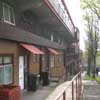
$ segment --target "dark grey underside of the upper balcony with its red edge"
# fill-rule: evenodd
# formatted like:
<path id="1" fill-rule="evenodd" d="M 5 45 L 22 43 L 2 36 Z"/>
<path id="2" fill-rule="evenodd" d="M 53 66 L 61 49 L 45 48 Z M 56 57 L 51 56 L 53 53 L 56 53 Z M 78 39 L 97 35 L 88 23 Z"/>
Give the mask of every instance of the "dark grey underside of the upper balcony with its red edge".
<path id="1" fill-rule="evenodd" d="M 57 11 L 47 1 L 49 0 L 15 0 L 14 2 L 19 12 L 30 10 L 37 16 L 41 25 L 48 26 L 52 31 L 62 32 L 66 35 L 66 40 L 69 38 L 73 40 L 74 32 L 71 32 Z"/>

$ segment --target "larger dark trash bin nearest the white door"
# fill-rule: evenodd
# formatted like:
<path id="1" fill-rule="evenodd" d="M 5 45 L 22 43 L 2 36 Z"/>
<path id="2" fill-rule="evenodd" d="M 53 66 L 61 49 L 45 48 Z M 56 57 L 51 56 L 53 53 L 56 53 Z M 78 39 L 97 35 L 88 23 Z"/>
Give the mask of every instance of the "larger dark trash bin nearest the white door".
<path id="1" fill-rule="evenodd" d="M 36 91 L 39 86 L 39 74 L 28 75 L 28 91 Z"/>

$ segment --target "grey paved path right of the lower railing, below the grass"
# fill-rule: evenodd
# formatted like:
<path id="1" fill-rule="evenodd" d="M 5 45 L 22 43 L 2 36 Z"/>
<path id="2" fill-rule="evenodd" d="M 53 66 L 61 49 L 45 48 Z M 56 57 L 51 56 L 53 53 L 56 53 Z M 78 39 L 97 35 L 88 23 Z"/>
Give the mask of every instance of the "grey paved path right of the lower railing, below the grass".
<path id="1" fill-rule="evenodd" d="M 83 100 L 100 100 L 100 85 L 95 81 L 84 81 Z"/>

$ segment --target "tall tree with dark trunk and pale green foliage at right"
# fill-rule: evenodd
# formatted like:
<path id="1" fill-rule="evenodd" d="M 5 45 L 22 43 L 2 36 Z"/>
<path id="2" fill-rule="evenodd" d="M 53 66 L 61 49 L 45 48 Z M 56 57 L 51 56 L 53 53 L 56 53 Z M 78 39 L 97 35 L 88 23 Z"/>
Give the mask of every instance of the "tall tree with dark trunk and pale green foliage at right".
<path id="1" fill-rule="evenodd" d="M 82 0 L 81 7 L 84 10 L 84 20 L 86 21 L 86 32 L 88 37 L 88 70 L 87 74 L 92 74 L 95 78 L 96 70 L 96 54 L 99 42 L 99 25 L 100 20 L 100 1 L 98 0 Z"/>

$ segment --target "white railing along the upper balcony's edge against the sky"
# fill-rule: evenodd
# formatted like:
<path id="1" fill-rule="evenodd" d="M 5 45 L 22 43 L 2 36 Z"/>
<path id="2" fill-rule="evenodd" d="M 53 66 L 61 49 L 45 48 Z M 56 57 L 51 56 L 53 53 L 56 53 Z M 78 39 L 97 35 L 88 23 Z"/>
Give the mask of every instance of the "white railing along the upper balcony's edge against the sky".
<path id="1" fill-rule="evenodd" d="M 58 17 L 61 18 L 63 23 L 68 27 L 68 29 L 71 31 L 72 35 L 74 35 L 75 27 L 71 21 L 69 13 L 66 11 L 62 0 L 44 0 L 48 6 L 51 8 L 51 10 L 57 13 Z"/>

